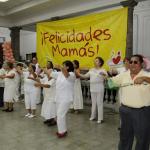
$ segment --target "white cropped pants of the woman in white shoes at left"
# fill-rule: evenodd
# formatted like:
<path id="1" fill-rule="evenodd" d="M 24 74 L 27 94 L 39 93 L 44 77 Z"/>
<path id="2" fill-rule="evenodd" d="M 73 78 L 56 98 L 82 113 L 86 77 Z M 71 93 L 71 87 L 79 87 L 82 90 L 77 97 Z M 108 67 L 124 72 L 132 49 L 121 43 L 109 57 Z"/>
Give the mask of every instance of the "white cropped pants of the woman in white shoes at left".
<path id="1" fill-rule="evenodd" d="M 36 92 L 25 91 L 25 107 L 26 109 L 36 109 Z"/>

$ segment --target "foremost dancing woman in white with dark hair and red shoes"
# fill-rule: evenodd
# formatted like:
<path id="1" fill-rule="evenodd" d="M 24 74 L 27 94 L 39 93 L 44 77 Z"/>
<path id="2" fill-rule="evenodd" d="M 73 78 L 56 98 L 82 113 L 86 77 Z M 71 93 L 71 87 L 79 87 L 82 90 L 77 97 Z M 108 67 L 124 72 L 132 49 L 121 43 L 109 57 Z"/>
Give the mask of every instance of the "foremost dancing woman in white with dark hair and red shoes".
<path id="1" fill-rule="evenodd" d="M 57 136 L 67 135 L 66 115 L 73 102 L 75 74 L 71 61 L 65 61 L 61 72 L 52 72 L 50 77 L 56 79 L 56 109 L 57 109 Z"/>

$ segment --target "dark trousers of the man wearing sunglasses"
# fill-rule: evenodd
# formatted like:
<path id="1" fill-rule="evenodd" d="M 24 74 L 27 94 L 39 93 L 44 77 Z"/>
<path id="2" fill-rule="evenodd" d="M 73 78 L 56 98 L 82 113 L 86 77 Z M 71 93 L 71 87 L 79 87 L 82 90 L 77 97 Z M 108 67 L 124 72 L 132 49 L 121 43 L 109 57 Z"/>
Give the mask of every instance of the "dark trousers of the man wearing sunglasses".
<path id="1" fill-rule="evenodd" d="M 120 107 L 121 130 L 119 150 L 132 150 L 134 137 L 135 150 L 150 148 L 150 107 L 129 108 Z"/>

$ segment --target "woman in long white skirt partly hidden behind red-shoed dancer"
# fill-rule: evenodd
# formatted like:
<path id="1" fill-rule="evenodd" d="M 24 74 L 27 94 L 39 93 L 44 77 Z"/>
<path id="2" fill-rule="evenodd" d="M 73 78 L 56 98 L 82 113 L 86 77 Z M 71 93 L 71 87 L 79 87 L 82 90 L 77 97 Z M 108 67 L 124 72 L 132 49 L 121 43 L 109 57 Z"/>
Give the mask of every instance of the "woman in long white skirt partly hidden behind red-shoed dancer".
<path id="1" fill-rule="evenodd" d="M 80 73 L 79 69 L 79 61 L 73 61 L 75 72 Z M 83 96 L 82 96 L 82 89 L 81 89 L 81 81 L 78 76 L 76 76 L 75 84 L 74 84 L 74 99 L 73 99 L 73 109 L 75 113 L 79 113 L 80 110 L 83 109 Z"/>

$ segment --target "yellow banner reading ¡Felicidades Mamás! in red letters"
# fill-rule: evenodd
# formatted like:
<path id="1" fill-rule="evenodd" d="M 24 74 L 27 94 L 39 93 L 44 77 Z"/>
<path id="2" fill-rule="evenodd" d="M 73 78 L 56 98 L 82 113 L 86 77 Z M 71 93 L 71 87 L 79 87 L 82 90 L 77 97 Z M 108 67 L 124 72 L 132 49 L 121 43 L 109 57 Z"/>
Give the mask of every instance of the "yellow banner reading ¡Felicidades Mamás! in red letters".
<path id="1" fill-rule="evenodd" d="M 93 67 L 95 57 L 104 67 L 119 65 L 125 56 L 127 8 L 37 24 L 37 57 L 61 65 L 78 60 L 81 68 Z"/>

